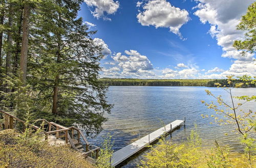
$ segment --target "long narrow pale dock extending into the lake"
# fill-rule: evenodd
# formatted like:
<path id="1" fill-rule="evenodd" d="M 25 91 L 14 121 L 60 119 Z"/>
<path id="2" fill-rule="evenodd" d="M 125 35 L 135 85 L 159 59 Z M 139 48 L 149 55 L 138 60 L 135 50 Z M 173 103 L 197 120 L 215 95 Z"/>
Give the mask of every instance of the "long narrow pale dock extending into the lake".
<path id="1" fill-rule="evenodd" d="M 185 120 L 185 119 L 184 119 Z M 127 145 L 126 147 L 114 152 L 111 161 L 112 166 L 117 166 L 127 158 L 131 157 L 135 153 L 139 152 L 141 149 L 145 148 L 148 144 L 155 142 L 163 134 L 177 128 L 178 126 L 184 123 L 183 120 L 175 120 L 172 123 L 167 124 L 166 126 L 138 139 L 134 143 Z"/>

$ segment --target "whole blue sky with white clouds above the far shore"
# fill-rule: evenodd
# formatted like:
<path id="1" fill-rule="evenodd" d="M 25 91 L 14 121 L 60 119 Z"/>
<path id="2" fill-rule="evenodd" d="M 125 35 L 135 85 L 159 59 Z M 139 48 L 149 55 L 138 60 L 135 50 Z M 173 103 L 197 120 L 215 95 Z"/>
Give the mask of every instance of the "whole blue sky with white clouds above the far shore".
<path id="1" fill-rule="evenodd" d="M 232 47 L 250 0 L 84 0 L 79 16 L 102 45 L 101 77 L 256 75 L 254 55 Z"/>

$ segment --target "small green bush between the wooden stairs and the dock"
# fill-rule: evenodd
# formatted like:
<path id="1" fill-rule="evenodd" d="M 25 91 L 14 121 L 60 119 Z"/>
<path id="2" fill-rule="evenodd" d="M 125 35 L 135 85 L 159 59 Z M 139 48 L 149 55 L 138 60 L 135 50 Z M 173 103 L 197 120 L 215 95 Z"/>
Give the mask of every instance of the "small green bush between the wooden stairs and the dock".
<path id="1" fill-rule="evenodd" d="M 114 142 L 111 141 L 111 135 L 106 136 L 104 142 L 101 144 L 99 156 L 96 159 L 96 167 L 112 167 L 111 163 L 113 162 L 113 160 L 111 160 L 111 157 L 114 153 L 114 151 L 112 150 L 113 144 Z"/>

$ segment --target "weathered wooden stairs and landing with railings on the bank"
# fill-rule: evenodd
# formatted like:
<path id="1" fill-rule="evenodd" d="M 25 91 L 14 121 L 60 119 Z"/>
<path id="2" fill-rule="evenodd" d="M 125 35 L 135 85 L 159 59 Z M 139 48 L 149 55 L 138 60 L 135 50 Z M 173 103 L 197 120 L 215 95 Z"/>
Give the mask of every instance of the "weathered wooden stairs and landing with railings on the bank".
<path id="1" fill-rule="evenodd" d="M 0 113 L 4 115 L 4 123 L 0 125 L 0 131 L 3 129 L 15 129 L 17 122 L 23 123 L 25 129 L 25 121 L 20 120 L 3 110 L 0 110 Z M 29 124 L 29 126 L 35 130 L 39 128 L 42 130 L 42 132 L 40 132 L 40 134 L 44 135 L 42 140 L 48 141 L 51 145 L 70 144 L 71 148 L 80 152 L 81 155 L 88 158 L 89 161 L 97 159 L 100 148 L 89 144 L 86 136 L 84 136 L 83 132 L 77 127 L 71 126 L 67 128 L 54 122 L 48 122 L 46 119 L 38 119 L 36 122 L 40 122 L 40 126 L 35 126 L 33 124 Z M 81 139 L 83 139 L 85 144 L 81 143 Z"/>

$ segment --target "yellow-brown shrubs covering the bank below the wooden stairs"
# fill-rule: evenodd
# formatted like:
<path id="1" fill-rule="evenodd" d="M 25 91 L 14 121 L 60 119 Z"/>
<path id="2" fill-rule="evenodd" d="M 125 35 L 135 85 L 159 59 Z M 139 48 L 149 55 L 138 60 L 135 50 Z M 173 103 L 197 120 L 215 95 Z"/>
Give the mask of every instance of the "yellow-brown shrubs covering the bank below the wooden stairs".
<path id="1" fill-rule="evenodd" d="M 93 167 L 69 146 L 50 146 L 33 135 L 21 141 L 23 134 L 0 131 L 0 167 Z"/>

